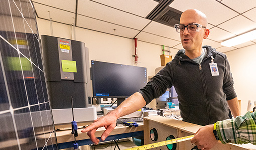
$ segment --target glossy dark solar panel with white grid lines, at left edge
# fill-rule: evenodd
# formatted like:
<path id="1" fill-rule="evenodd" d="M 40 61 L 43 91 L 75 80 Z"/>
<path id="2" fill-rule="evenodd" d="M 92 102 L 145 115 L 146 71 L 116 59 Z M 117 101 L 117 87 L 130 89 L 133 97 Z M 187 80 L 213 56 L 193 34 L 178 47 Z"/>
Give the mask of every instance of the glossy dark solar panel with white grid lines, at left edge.
<path id="1" fill-rule="evenodd" d="M 30 0 L 1 0 L 0 149 L 57 149 Z"/>

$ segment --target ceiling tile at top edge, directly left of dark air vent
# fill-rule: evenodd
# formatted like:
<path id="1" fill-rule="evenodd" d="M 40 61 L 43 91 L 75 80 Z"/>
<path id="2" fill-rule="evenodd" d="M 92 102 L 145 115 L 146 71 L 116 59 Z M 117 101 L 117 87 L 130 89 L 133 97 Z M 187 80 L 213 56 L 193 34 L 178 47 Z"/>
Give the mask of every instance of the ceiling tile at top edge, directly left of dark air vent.
<path id="1" fill-rule="evenodd" d="M 157 5 L 154 0 L 91 0 L 141 17 L 146 17 Z"/>

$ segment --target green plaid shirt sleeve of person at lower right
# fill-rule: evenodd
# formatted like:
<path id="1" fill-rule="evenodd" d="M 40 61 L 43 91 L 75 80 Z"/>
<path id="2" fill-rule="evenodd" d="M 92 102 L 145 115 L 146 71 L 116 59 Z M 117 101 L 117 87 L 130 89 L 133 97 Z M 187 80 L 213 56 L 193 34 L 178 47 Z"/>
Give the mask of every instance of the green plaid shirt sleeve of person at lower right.
<path id="1" fill-rule="evenodd" d="M 235 119 L 227 119 L 216 123 L 216 131 L 223 144 L 247 144 L 256 145 L 256 112 L 247 112 L 244 116 Z"/>

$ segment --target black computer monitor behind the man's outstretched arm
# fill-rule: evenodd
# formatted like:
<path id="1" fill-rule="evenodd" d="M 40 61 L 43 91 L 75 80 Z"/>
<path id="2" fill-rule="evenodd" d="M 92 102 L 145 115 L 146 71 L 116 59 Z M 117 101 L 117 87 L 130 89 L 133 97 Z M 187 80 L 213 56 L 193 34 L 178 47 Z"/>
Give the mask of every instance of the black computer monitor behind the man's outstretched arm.
<path id="1" fill-rule="evenodd" d="M 147 84 L 147 69 L 91 61 L 93 97 L 127 98 Z"/>

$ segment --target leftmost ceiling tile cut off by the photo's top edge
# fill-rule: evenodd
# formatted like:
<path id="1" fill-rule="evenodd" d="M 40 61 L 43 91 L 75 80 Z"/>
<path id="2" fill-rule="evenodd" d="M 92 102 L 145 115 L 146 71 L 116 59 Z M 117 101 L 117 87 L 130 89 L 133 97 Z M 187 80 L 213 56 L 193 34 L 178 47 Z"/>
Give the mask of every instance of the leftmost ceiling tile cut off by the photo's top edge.
<path id="1" fill-rule="evenodd" d="M 42 3 L 62 10 L 76 12 L 76 0 L 32 0 L 35 3 Z"/>

